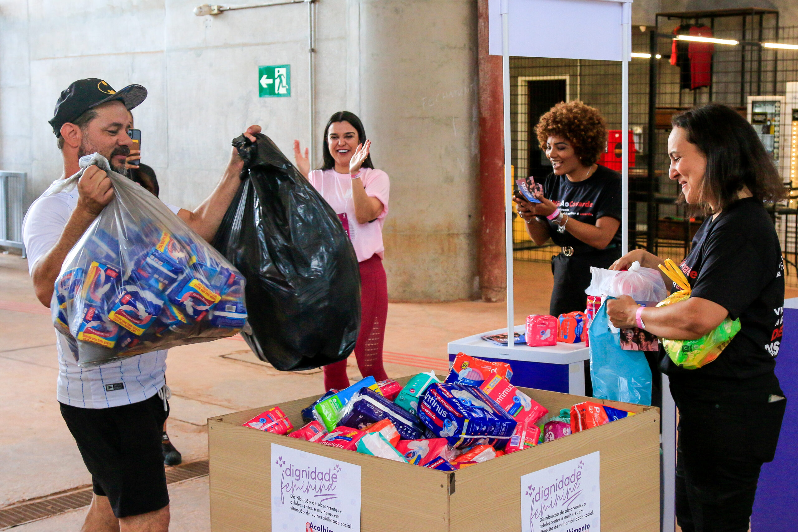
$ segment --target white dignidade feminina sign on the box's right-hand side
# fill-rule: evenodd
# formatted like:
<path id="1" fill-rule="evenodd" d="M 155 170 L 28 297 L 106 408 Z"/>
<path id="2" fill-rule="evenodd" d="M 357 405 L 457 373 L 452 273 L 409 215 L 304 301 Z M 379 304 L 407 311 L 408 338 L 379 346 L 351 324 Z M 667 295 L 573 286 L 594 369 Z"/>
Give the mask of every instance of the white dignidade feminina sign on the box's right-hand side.
<path id="1" fill-rule="evenodd" d="M 601 532 L 599 451 L 521 477 L 521 532 Z"/>

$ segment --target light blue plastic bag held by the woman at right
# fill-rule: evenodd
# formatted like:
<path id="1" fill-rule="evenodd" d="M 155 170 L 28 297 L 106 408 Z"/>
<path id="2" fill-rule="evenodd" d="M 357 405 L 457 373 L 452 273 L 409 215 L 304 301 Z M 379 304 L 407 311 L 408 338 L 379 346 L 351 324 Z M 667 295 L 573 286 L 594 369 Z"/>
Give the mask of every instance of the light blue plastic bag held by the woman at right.
<path id="1" fill-rule="evenodd" d="M 614 298 L 606 298 L 610 300 Z M 596 399 L 651 404 L 651 368 L 642 351 L 621 349 L 604 301 L 591 322 L 591 379 Z"/>

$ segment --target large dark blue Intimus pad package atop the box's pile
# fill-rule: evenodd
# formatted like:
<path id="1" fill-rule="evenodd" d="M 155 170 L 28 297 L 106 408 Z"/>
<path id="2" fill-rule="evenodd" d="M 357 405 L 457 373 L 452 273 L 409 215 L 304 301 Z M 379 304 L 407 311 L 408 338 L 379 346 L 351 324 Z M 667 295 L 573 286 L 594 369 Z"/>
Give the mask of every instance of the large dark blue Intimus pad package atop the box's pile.
<path id="1" fill-rule="evenodd" d="M 421 422 L 452 447 L 487 443 L 504 447 L 516 420 L 480 388 L 461 384 L 432 384 L 419 409 Z"/>

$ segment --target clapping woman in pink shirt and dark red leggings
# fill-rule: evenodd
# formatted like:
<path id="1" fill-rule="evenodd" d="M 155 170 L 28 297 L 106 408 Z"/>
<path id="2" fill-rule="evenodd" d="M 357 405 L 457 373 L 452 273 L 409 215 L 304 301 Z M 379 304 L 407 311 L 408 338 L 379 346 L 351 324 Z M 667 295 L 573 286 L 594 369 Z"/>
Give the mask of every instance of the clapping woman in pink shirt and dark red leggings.
<path id="1" fill-rule="evenodd" d="M 302 155 L 294 140 L 294 160 L 322 197 L 330 203 L 349 234 L 360 263 L 361 322 L 354 354 L 362 376 L 385 380 L 382 365 L 382 341 L 388 316 L 388 283 L 382 257 L 382 225 L 388 215 L 390 183 L 388 174 L 371 163 L 365 130 L 358 116 L 348 111 L 336 112 L 324 129 L 322 155 L 324 164 L 310 171 L 307 148 Z M 348 388 L 346 361 L 324 366 L 326 389 Z"/>

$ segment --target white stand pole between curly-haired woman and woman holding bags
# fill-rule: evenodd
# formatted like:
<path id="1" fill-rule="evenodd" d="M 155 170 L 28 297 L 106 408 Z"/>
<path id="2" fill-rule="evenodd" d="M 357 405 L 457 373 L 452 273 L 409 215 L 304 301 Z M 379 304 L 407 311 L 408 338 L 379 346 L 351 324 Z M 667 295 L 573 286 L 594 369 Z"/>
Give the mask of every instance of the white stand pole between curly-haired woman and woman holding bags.
<path id="1" fill-rule="evenodd" d="M 632 4 L 621 4 L 621 253 L 629 253 L 629 60 Z"/>

